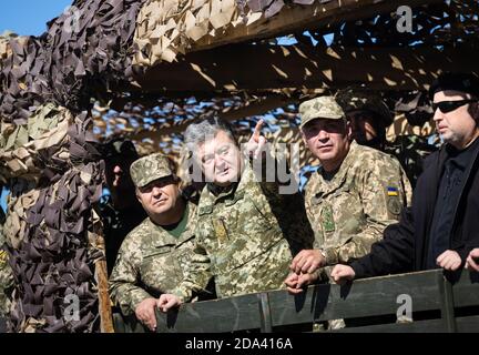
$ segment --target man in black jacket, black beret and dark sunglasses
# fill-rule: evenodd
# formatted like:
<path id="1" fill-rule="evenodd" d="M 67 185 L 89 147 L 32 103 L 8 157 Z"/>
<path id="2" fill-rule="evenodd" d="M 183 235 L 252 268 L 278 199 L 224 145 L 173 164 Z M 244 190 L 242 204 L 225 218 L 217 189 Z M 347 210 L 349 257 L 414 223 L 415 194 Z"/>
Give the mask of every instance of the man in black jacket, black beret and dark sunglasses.
<path id="1" fill-rule="evenodd" d="M 379 276 L 472 264 L 479 247 L 479 80 L 442 74 L 430 88 L 434 120 L 445 144 L 425 163 L 410 207 L 366 256 L 337 265 L 333 278 Z M 467 261 L 467 264 L 466 264 Z M 306 282 L 307 283 L 307 282 Z"/>

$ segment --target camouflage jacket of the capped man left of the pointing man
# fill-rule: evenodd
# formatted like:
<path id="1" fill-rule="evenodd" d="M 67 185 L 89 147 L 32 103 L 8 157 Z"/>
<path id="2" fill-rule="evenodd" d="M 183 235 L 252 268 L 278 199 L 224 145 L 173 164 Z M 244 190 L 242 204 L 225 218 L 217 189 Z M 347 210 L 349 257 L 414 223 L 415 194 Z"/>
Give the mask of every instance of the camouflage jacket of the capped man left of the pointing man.
<path id="1" fill-rule="evenodd" d="M 186 227 L 179 239 L 150 217 L 123 241 L 110 276 L 110 295 L 124 315 L 150 297 L 170 293 L 183 280 L 183 266 L 192 256 L 196 206 L 187 204 Z"/>

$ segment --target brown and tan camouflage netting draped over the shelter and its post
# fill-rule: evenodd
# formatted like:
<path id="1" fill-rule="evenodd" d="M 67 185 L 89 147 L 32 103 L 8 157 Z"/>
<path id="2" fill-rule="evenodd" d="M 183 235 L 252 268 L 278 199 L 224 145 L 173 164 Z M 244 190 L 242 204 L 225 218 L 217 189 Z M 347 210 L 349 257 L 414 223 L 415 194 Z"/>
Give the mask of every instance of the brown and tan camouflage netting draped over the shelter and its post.
<path id="1" fill-rule="evenodd" d="M 161 150 L 181 162 L 184 128 L 220 114 L 238 129 L 241 141 L 261 118 L 272 142 L 299 141 L 296 104 L 314 94 L 300 88 L 262 93 L 220 90 L 187 98 L 172 98 L 166 92 L 153 99 L 133 88 L 147 69 L 173 61 L 201 41 L 221 38 L 235 27 L 266 23 L 283 9 L 312 3 L 77 0 L 41 37 L 9 33 L 0 38 L 0 183 L 11 192 L 4 230 L 18 285 L 12 331 L 101 328 L 99 323 L 104 320 L 99 316 L 96 265 L 103 260 L 103 246 L 92 209 L 101 194 L 104 169 L 98 140 L 129 138 L 141 153 Z M 478 7 L 477 1 L 425 6 L 415 11 L 414 34 L 395 31 L 395 17 L 381 14 L 332 27 L 318 23 L 307 37 L 295 33 L 289 38 L 299 43 L 316 40 L 317 49 L 329 44 L 477 48 Z M 325 34 L 333 34 L 333 43 L 326 43 Z M 257 36 L 256 43 L 274 42 Z M 430 109 L 422 92 L 381 94 L 391 110 L 404 113 L 395 122 L 401 131 L 407 120 L 422 126 L 422 134 L 430 133 L 430 128 L 424 129 Z M 249 111 L 273 95 L 284 100 L 266 104 L 263 111 Z M 251 116 L 253 120 L 247 119 Z M 300 165 L 315 163 L 304 149 L 300 160 Z M 79 320 L 63 316 L 69 295 L 80 300 Z"/>

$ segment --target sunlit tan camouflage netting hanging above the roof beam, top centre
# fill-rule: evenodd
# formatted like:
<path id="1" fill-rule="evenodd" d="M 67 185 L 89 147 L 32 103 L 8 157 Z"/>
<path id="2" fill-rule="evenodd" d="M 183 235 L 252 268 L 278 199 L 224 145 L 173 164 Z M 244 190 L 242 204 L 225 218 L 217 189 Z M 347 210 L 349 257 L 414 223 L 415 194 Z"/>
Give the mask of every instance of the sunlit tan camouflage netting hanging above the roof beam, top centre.
<path id="1" fill-rule="evenodd" d="M 332 0 L 293 0 L 293 4 Z M 277 14 L 283 0 L 149 0 L 140 11 L 134 43 L 134 64 L 153 67 L 172 62 L 192 43 L 221 37 L 228 28 L 248 27 L 261 18 Z"/>

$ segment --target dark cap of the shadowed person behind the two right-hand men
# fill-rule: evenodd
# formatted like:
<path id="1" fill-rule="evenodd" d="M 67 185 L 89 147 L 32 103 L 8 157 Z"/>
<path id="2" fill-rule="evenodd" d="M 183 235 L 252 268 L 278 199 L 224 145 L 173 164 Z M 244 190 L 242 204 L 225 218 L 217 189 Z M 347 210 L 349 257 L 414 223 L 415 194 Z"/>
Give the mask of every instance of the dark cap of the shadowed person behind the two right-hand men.
<path id="1" fill-rule="evenodd" d="M 385 126 L 393 123 L 394 118 L 389 108 L 380 99 L 380 97 L 359 90 L 340 91 L 336 100 L 343 106 L 343 110 L 348 113 L 351 111 L 369 111 L 383 120 Z"/>

